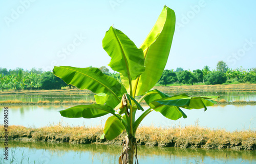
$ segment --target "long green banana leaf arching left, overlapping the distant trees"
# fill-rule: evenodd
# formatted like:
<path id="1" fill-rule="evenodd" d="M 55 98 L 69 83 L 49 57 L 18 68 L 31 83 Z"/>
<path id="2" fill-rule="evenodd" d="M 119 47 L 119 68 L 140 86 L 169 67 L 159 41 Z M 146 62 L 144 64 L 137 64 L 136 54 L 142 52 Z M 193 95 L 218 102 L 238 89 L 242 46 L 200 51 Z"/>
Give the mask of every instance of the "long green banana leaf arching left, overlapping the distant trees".
<path id="1" fill-rule="evenodd" d="M 121 100 L 119 97 L 127 93 L 122 84 L 115 78 L 103 74 L 98 68 L 55 66 L 53 73 L 68 85 L 71 84 L 81 90 L 88 89 L 96 94 L 113 95 L 117 100 Z"/>

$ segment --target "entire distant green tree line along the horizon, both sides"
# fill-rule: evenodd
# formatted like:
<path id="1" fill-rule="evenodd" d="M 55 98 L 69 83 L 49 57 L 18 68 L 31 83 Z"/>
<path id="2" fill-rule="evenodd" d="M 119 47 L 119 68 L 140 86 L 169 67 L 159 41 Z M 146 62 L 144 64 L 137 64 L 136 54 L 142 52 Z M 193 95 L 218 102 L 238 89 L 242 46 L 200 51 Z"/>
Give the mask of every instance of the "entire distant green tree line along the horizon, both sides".
<path id="1" fill-rule="evenodd" d="M 118 81 L 121 81 L 118 72 L 111 73 L 108 68 L 102 66 L 99 68 L 102 73 L 109 75 Z M 202 70 L 194 71 L 177 68 L 174 70 L 164 70 L 158 85 L 194 85 L 202 83 L 206 85 L 216 84 L 239 84 L 239 83 L 256 83 L 256 68 L 243 70 L 242 68 L 232 70 L 227 67 L 223 61 L 218 62 L 216 70 L 210 71 L 208 66 Z M 23 68 L 7 70 L 0 68 L 0 89 L 4 90 L 51 90 L 61 89 L 61 87 L 72 88 L 62 79 L 55 76 L 53 72 L 44 72 L 42 69 L 32 68 L 30 71 Z"/>

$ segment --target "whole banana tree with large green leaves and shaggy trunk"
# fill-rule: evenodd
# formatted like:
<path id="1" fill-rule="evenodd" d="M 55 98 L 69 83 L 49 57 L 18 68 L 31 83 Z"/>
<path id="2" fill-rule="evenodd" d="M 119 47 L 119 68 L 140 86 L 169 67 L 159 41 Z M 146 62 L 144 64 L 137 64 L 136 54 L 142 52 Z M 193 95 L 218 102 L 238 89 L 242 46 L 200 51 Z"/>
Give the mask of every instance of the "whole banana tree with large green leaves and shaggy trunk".
<path id="1" fill-rule="evenodd" d="M 177 120 L 187 116 L 181 110 L 211 106 L 214 97 L 190 97 L 186 94 L 169 96 L 152 89 L 166 65 L 175 30 L 175 13 L 164 6 L 156 24 L 139 48 L 121 31 L 110 27 L 102 44 L 111 57 L 109 66 L 120 73 L 121 83 L 103 74 L 98 68 L 55 66 L 53 73 L 67 84 L 79 89 L 88 89 L 96 95 L 96 103 L 77 105 L 60 111 L 68 118 L 96 118 L 112 114 L 105 123 L 101 139 L 115 139 L 123 131 L 122 153 L 119 163 L 133 163 L 137 159 L 136 130 L 141 121 L 151 112 L 160 112 L 164 117 Z M 137 101 L 136 99 L 141 96 Z M 142 100 L 148 105 L 144 110 Z M 140 116 L 136 119 L 136 114 Z"/>

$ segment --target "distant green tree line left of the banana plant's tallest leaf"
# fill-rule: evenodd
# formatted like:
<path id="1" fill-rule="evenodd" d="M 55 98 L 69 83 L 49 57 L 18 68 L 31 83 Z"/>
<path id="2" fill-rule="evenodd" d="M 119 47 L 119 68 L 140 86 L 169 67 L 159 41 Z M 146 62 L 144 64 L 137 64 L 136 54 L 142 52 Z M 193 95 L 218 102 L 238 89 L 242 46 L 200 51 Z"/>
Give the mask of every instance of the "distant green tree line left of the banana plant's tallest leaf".
<path id="1" fill-rule="evenodd" d="M 119 73 L 111 73 L 106 67 L 99 68 L 104 74 L 120 79 Z M 7 70 L 0 68 L 0 90 L 52 90 L 61 89 L 61 87 L 72 88 L 61 78 L 55 76 L 53 72 L 44 72 L 42 69 L 32 68 L 30 71 L 23 68 Z"/>

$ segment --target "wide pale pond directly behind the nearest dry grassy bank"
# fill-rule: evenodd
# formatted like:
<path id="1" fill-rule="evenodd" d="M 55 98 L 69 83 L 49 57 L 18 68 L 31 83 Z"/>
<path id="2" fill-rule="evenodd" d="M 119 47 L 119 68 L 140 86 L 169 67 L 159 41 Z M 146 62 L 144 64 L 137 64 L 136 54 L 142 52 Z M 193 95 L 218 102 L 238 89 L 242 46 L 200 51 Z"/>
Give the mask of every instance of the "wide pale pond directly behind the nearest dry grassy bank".
<path id="1" fill-rule="evenodd" d="M 99 118 L 65 118 L 58 111 L 74 105 L 23 105 L 9 107 L 9 125 L 22 125 L 26 127 L 42 127 L 61 123 L 63 126 L 101 126 L 104 127 L 106 119 L 110 115 Z M 147 106 L 143 106 L 145 109 Z M 0 108 L 3 113 L 4 108 Z M 156 127 L 177 127 L 199 125 L 211 129 L 224 128 L 228 131 L 255 130 L 256 129 L 256 105 L 214 105 L 207 107 L 207 111 L 182 109 L 187 118 L 177 121 L 169 120 L 161 113 L 153 111 L 141 122 L 143 126 L 154 125 Z M 137 114 L 141 114 L 140 111 Z M 0 115 L 0 120 L 3 119 Z M 137 118 L 139 116 L 137 115 Z"/>

